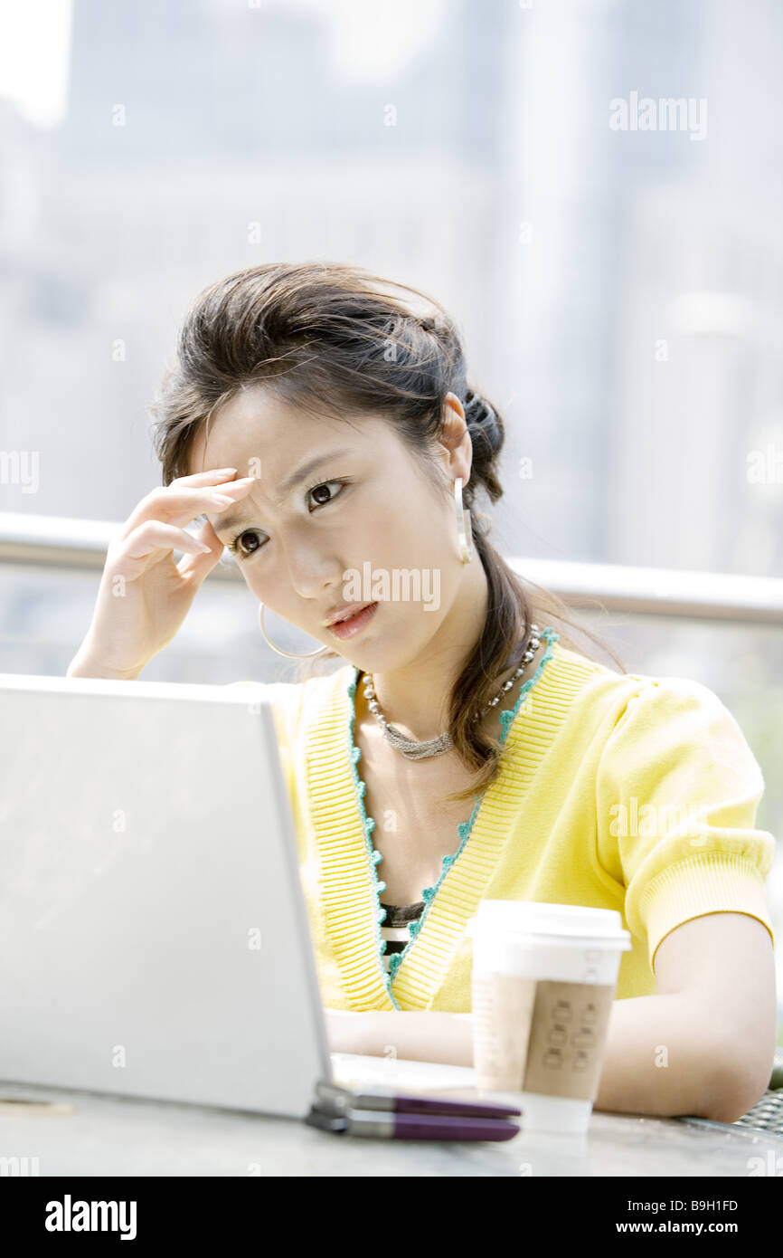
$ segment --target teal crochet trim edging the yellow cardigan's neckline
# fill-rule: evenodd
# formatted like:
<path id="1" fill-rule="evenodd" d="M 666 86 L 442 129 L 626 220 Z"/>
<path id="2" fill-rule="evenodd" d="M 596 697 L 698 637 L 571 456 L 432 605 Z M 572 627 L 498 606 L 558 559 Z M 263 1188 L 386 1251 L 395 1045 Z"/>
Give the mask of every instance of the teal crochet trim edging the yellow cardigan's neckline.
<path id="1" fill-rule="evenodd" d="M 517 697 L 517 702 L 514 703 L 514 707 L 513 708 L 506 708 L 506 710 L 504 710 L 504 711 L 500 712 L 500 726 L 501 726 L 501 730 L 500 730 L 500 737 L 498 740 L 500 742 L 500 746 L 504 746 L 505 740 L 508 737 L 508 732 L 509 732 L 509 730 L 510 730 L 510 727 L 512 727 L 512 725 L 514 722 L 514 718 L 515 718 L 517 713 L 519 712 L 519 708 L 520 708 L 520 706 L 522 706 L 525 696 L 535 686 L 538 678 L 540 677 L 542 672 L 544 671 L 544 664 L 547 663 L 547 660 L 552 659 L 552 643 L 553 642 L 558 642 L 558 639 L 559 639 L 559 634 L 557 634 L 554 632 L 554 629 L 550 629 L 550 628 L 544 629 L 540 637 L 542 637 L 542 640 L 547 643 L 547 652 L 545 652 L 545 654 L 544 654 L 540 664 L 535 669 L 535 673 L 533 674 L 533 677 L 530 677 L 524 683 L 524 686 L 522 687 L 522 689 L 519 691 L 519 694 Z M 424 891 L 421 893 L 421 898 L 425 902 L 425 907 L 424 907 L 424 910 L 421 912 L 421 917 L 419 918 L 419 921 L 415 921 L 415 922 L 410 923 L 410 926 L 408 926 L 408 933 L 410 933 L 408 942 L 405 945 L 405 947 L 402 949 L 401 952 L 395 952 L 395 955 L 392 957 L 390 957 L 388 971 L 387 971 L 386 966 L 383 965 L 383 961 L 381 960 L 382 956 L 383 956 L 383 954 L 386 952 L 386 940 L 381 938 L 381 922 L 386 918 L 386 910 L 381 908 L 381 897 L 380 897 L 380 892 L 386 889 L 386 883 L 385 882 L 378 882 L 378 876 L 377 876 L 377 866 L 381 863 L 381 860 L 383 859 L 383 857 L 381 855 L 380 852 L 377 852 L 372 847 L 372 840 L 371 840 L 370 835 L 371 835 L 372 830 L 375 829 L 375 824 L 376 823 L 372 819 L 372 816 L 367 816 L 367 811 L 364 809 L 364 791 L 367 790 L 367 784 L 363 782 L 363 781 L 361 781 L 359 775 L 358 775 L 357 769 L 356 769 L 357 762 L 358 762 L 358 760 L 361 759 L 361 755 L 362 755 L 361 749 L 356 746 L 356 741 L 354 741 L 354 727 L 356 727 L 356 687 L 357 687 L 357 683 L 358 683 L 358 677 L 359 677 L 359 669 L 357 667 L 354 667 L 354 669 L 353 669 L 353 681 L 348 686 L 348 694 L 351 697 L 351 710 L 352 710 L 351 711 L 351 720 L 348 722 L 348 733 L 349 733 L 349 738 L 351 738 L 351 766 L 353 769 L 353 779 L 356 781 L 356 789 L 357 789 L 358 800 L 359 800 L 359 809 L 361 809 L 362 820 L 363 820 L 363 824 L 364 824 L 364 839 L 366 839 L 366 843 L 367 843 L 367 852 L 368 852 L 370 862 L 371 862 L 370 868 L 371 868 L 371 872 L 372 872 L 373 886 L 375 886 L 375 889 L 376 889 L 376 898 L 377 898 L 377 902 L 378 902 L 378 912 L 376 915 L 376 935 L 377 935 L 377 938 L 378 938 L 378 960 L 381 961 L 381 970 L 383 972 L 383 977 L 385 977 L 385 981 L 386 981 L 386 990 L 388 991 L 388 995 L 390 995 L 391 1000 L 393 1001 L 395 1008 L 398 1009 L 400 1005 L 397 1004 L 397 1001 L 395 999 L 395 995 L 393 995 L 392 989 L 391 989 L 391 984 L 392 984 L 392 981 L 395 979 L 395 975 L 397 974 L 397 970 L 400 969 L 400 966 L 402 965 L 405 957 L 407 956 L 408 950 L 412 947 L 412 945 L 413 945 L 413 942 L 416 940 L 416 936 L 419 935 L 421 927 L 424 926 L 426 916 L 427 916 L 427 913 L 430 911 L 430 906 L 431 906 L 432 901 L 435 899 L 435 896 L 437 894 L 437 889 L 439 889 L 440 884 L 442 883 L 444 878 L 449 873 L 449 869 L 451 868 L 451 866 L 454 864 L 454 862 L 459 858 L 460 852 L 463 850 L 463 848 L 468 843 L 468 839 L 470 838 L 470 832 L 473 829 L 473 824 L 474 824 L 474 821 L 476 819 L 476 814 L 479 813 L 479 809 L 481 808 L 481 798 L 478 796 L 478 795 L 474 796 L 475 798 L 475 804 L 474 804 L 473 813 L 470 814 L 470 819 L 468 821 L 461 821 L 457 825 L 456 829 L 457 829 L 457 834 L 460 837 L 460 845 L 459 845 L 457 850 L 452 855 L 446 855 L 446 857 L 442 858 L 442 862 L 441 862 L 441 866 L 442 866 L 441 874 L 440 874 L 440 878 L 437 879 L 435 887 L 425 887 L 424 888 Z"/>

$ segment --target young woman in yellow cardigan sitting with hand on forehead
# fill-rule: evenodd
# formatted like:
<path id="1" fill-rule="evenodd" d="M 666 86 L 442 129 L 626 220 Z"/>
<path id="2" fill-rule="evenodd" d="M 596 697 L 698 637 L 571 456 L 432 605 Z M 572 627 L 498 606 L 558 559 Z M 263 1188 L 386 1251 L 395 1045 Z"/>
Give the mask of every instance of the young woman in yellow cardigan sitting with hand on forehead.
<path id="1" fill-rule="evenodd" d="M 504 425 L 442 307 L 357 267 L 239 272 L 192 304 L 153 413 L 163 487 L 69 673 L 137 678 L 224 547 L 265 635 L 269 606 L 342 660 L 265 687 L 332 1047 L 470 1063 L 480 899 L 615 908 L 596 1108 L 747 1112 L 775 1042 L 760 770 L 711 691 L 591 658 L 493 547 Z"/>

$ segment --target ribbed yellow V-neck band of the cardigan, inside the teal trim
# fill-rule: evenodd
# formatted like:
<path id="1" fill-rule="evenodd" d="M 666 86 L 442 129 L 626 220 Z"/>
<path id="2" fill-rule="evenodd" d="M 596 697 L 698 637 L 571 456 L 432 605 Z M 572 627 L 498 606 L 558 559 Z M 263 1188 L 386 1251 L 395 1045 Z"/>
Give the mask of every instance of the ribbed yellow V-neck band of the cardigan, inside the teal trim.
<path id="1" fill-rule="evenodd" d="M 540 637 L 547 643 L 547 652 L 534 676 L 524 683 L 514 706 L 499 713 L 503 726 L 499 741 L 501 745 L 508 741 L 509 749 L 522 737 L 519 718 L 527 715 L 524 699 L 547 662 L 553 659 L 558 634 L 547 628 Z M 503 823 L 518 811 L 527 775 L 515 774 L 509 779 L 501 761 L 495 781 L 481 796 L 474 796 L 470 819 L 457 825 L 460 847 L 454 855 L 442 858 L 435 887 L 422 892 L 421 917 L 411 922 L 411 937 L 405 949 L 390 959 L 387 971 L 381 937 L 381 922 L 386 916 L 381 891 L 386 883 L 378 879 L 378 864 L 383 858 L 372 847 L 375 820 L 367 816 L 366 784 L 356 767 L 361 759 L 354 741 L 356 687 L 361 669 L 351 667 L 347 687 L 342 683 L 343 672 L 341 669 L 341 684 L 333 687 L 329 702 L 305 738 L 326 928 L 352 1008 L 426 1009 L 493 877 L 508 839 L 508 827 Z M 550 673 L 552 668 L 548 681 Z"/>

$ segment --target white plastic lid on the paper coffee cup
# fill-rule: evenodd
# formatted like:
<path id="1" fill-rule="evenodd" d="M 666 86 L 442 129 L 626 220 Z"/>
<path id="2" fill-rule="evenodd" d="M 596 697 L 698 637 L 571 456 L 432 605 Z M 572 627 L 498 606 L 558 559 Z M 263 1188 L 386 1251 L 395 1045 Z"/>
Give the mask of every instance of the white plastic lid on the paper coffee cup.
<path id="1" fill-rule="evenodd" d="M 616 942 L 626 949 L 630 947 L 631 938 L 628 931 L 623 928 L 622 915 L 616 908 L 550 905 L 532 899 L 481 899 L 476 916 L 468 922 L 466 931 L 471 937 L 476 931 L 578 937 L 593 940 L 598 946 Z"/>

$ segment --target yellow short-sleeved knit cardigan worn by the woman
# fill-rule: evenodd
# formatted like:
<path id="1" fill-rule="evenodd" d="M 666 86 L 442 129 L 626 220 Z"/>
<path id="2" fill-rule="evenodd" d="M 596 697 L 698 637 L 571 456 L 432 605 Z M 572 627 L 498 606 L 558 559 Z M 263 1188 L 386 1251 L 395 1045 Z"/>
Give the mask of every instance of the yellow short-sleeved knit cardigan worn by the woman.
<path id="1" fill-rule="evenodd" d="M 382 952 L 381 853 L 353 742 L 358 669 L 254 686 L 271 702 L 323 1004 L 469 1013 L 465 925 L 479 901 L 618 910 L 631 932 L 617 999 L 652 995 L 655 952 L 704 913 L 768 928 L 774 838 L 754 829 L 762 771 L 731 713 L 699 682 L 617 673 L 561 647 L 501 713 L 499 777 L 455 834 L 405 950 Z"/>

